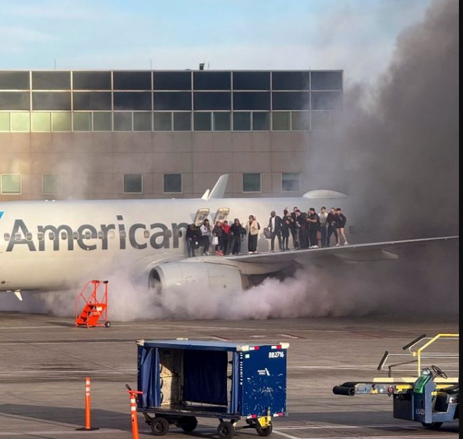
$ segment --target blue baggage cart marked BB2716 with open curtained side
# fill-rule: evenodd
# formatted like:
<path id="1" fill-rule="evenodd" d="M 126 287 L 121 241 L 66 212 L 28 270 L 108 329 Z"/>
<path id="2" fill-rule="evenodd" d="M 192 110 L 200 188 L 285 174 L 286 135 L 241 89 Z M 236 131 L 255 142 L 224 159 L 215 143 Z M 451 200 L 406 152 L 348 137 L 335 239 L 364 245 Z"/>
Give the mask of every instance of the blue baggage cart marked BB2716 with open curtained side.
<path id="1" fill-rule="evenodd" d="M 288 343 L 138 340 L 137 410 L 155 435 L 176 425 L 191 432 L 197 417 L 219 419 L 221 439 L 236 428 L 272 432 L 272 418 L 286 416 Z M 246 425 L 237 427 L 240 419 Z"/>

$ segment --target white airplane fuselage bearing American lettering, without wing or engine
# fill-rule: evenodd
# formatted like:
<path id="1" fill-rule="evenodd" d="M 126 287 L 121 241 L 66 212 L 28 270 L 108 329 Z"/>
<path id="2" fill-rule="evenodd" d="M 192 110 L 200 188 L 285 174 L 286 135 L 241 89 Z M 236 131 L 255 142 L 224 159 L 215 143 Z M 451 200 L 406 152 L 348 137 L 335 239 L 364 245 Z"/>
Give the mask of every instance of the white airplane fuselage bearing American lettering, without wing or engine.
<path id="1" fill-rule="evenodd" d="M 346 200 L 335 200 L 336 204 Z M 139 270 L 153 262 L 186 256 L 185 228 L 198 209 L 212 223 L 229 208 L 231 224 L 256 216 L 261 234 L 270 212 L 306 211 L 332 200 L 307 198 L 222 198 L 162 200 L 12 201 L 0 203 L 0 291 L 52 290 L 82 277 L 101 278 L 118 270 Z M 344 207 L 344 206 L 342 206 Z M 180 233 L 179 233 L 180 231 Z M 259 239 L 259 251 L 268 243 Z"/>

